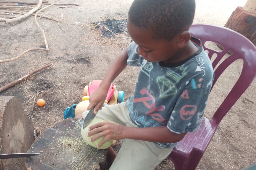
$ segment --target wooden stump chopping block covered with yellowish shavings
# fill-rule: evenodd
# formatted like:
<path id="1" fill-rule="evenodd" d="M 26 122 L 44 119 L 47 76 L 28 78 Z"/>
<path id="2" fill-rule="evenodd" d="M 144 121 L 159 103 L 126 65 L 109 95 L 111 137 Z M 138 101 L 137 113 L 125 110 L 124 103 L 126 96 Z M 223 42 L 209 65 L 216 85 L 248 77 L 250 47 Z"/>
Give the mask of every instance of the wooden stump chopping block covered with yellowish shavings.
<path id="1" fill-rule="evenodd" d="M 82 122 L 69 118 L 42 132 L 28 150 L 40 155 L 26 158 L 27 169 L 105 169 L 107 149 L 86 144 Z"/>

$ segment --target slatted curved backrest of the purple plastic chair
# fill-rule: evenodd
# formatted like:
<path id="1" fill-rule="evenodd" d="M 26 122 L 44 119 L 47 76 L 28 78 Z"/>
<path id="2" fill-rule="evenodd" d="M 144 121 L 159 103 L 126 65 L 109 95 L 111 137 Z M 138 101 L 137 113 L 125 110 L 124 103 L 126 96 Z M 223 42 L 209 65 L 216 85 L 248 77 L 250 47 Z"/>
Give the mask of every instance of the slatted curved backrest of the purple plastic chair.
<path id="1" fill-rule="evenodd" d="M 210 120 L 212 126 L 217 127 L 222 118 L 249 87 L 256 76 L 256 47 L 243 35 L 225 27 L 208 24 L 195 24 L 190 27 L 189 32 L 192 36 L 201 40 L 204 49 L 209 51 L 208 56 L 210 58 L 214 53 L 217 54 L 217 57 L 212 62 L 213 68 L 217 66 L 221 58 L 229 50 L 233 51 L 233 54 L 226 58 L 215 70 L 215 77 L 212 87 L 223 71 L 225 71 L 231 63 L 237 59 L 243 60 L 242 72 L 236 84 L 233 86 L 225 100 L 221 103 Z M 206 41 L 212 41 L 214 43 L 223 45 L 223 51 L 217 52 L 206 48 Z"/>

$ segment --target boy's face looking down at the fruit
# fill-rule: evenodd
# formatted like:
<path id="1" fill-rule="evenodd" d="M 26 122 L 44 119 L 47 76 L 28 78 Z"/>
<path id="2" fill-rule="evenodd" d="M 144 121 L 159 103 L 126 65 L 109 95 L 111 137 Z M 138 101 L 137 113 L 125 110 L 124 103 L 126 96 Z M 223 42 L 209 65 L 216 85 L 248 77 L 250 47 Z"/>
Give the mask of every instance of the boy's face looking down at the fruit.
<path id="1" fill-rule="evenodd" d="M 176 37 L 171 41 L 154 40 L 151 30 L 136 27 L 129 22 L 129 18 L 127 20 L 127 30 L 132 40 L 139 46 L 138 54 L 149 62 L 169 62 L 169 59 L 180 49 L 177 46 Z"/>

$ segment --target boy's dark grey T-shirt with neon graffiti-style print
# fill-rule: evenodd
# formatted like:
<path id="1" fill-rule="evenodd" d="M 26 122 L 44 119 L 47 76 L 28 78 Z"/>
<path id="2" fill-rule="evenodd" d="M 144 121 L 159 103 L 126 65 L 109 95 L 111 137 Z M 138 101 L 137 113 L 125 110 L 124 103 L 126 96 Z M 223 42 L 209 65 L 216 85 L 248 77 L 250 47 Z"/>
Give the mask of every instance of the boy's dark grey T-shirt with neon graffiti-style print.
<path id="1" fill-rule="evenodd" d="M 200 40 L 191 41 L 199 50 L 178 63 L 147 62 L 137 44 L 128 46 L 127 63 L 141 67 L 134 94 L 125 103 L 138 127 L 167 125 L 176 134 L 199 130 L 214 72 Z M 178 142 L 156 144 L 175 147 Z"/>

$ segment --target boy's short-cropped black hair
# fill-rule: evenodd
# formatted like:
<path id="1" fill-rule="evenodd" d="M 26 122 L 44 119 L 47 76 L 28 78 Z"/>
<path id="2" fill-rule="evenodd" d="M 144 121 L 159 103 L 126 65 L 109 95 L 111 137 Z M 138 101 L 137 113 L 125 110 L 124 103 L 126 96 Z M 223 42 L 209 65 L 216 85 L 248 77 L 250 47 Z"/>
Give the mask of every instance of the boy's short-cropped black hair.
<path id="1" fill-rule="evenodd" d="M 172 40 L 195 16 L 195 0 L 135 0 L 129 21 L 152 30 L 154 39 Z"/>

